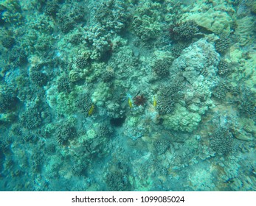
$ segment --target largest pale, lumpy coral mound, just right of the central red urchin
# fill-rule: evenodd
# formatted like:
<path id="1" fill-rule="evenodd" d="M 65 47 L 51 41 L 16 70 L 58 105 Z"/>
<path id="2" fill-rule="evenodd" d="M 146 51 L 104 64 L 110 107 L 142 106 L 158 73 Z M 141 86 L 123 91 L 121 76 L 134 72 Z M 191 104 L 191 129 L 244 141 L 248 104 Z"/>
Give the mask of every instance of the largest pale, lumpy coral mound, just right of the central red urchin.
<path id="1" fill-rule="evenodd" d="M 179 91 L 179 94 L 184 95 L 183 101 L 179 98 L 175 101 L 172 98 L 175 102 L 172 113 L 163 116 L 165 127 L 187 132 L 196 129 L 201 121 L 201 115 L 209 107 L 213 107 L 210 97 L 212 87 L 219 81 L 219 60 L 219 54 L 214 46 L 201 39 L 184 49 L 180 57 L 173 61 L 170 73 L 181 74 L 187 83 Z M 207 73 L 202 75 L 204 70 L 207 70 Z"/>

